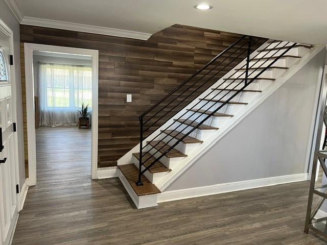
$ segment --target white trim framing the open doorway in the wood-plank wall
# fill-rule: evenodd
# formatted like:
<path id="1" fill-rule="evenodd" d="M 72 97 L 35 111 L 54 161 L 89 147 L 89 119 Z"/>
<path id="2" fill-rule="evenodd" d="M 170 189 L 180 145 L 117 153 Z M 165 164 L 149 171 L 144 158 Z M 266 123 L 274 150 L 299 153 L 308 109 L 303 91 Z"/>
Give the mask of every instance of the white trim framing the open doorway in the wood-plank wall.
<path id="1" fill-rule="evenodd" d="M 24 43 L 25 48 L 25 84 L 27 111 L 27 144 L 29 162 L 29 185 L 36 184 L 36 141 L 33 85 L 33 51 L 56 52 L 64 54 L 88 55 L 92 57 L 92 157 L 91 177 L 97 179 L 98 169 L 98 74 L 99 51 L 84 48 L 62 47 L 35 43 Z"/>

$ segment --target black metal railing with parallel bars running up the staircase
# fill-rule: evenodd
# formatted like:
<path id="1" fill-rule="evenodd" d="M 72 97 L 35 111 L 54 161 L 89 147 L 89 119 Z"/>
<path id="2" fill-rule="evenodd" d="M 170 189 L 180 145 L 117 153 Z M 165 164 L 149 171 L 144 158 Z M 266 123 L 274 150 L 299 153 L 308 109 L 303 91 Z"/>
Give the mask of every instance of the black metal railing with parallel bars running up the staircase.
<path id="1" fill-rule="evenodd" d="M 250 59 L 251 51 L 256 50 L 256 48 L 258 48 L 265 40 L 266 39 L 258 38 L 258 37 L 242 36 L 239 40 L 237 40 L 236 42 L 231 44 L 228 48 L 226 48 L 226 50 L 224 50 L 222 53 L 217 55 L 210 62 L 205 64 L 200 70 L 198 70 L 189 79 L 186 79 L 183 83 L 181 83 L 179 86 L 177 86 L 174 90 L 172 90 L 165 97 L 163 97 L 160 101 L 158 101 L 155 105 L 153 105 L 151 108 L 149 108 L 141 116 L 139 116 L 139 121 L 140 121 L 139 175 L 138 175 L 138 181 L 136 182 L 136 185 L 143 185 L 143 183 L 141 181 L 141 177 L 145 173 L 145 171 L 147 171 L 157 161 L 159 161 L 163 156 L 165 156 L 167 153 L 169 153 L 179 142 L 181 142 L 185 137 L 189 136 L 194 130 L 196 130 L 200 125 L 202 125 L 208 118 L 213 116 L 218 110 L 220 110 L 223 106 L 228 104 L 229 101 L 231 99 L 233 99 L 233 97 L 235 97 L 237 94 L 239 94 L 241 91 L 243 91 L 251 82 L 253 82 L 253 80 L 258 78 L 266 69 L 268 69 L 273 63 L 275 63 L 280 57 L 282 57 L 293 46 L 296 45 L 296 43 L 294 43 L 291 46 L 287 46 L 289 44 L 289 42 L 287 42 L 283 46 L 279 46 L 282 43 L 281 41 L 273 41 L 263 49 L 262 52 L 266 52 L 266 53 L 259 59 L 256 59 L 256 62 L 254 62 L 250 66 L 250 62 L 253 59 L 255 59 L 256 57 L 258 57 L 258 55 L 259 55 L 259 53 L 258 53 Z M 245 46 L 246 46 L 246 48 L 244 48 Z M 285 51 L 282 52 L 282 54 L 280 54 L 283 49 L 285 49 Z M 272 52 L 273 54 L 270 55 L 270 52 Z M 278 52 L 279 52 L 279 55 L 272 62 L 269 63 L 268 62 L 269 59 L 267 59 L 267 58 L 274 57 L 274 55 L 278 54 Z M 246 53 L 246 56 L 242 57 L 242 55 L 244 55 L 245 53 Z M 242 60 L 244 60 L 246 58 L 245 64 L 240 69 L 233 72 L 228 78 L 224 79 L 216 88 L 213 88 L 211 92 L 207 93 L 205 95 L 205 97 L 202 98 L 202 100 L 206 99 L 209 95 L 211 95 L 212 93 L 217 91 L 217 89 L 219 89 L 220 91 L 214 97 L 210 98 L 210 100 L 208 100 L 206 103 L 204 103 L 204 105 L 202 105 L 200 108 L 196 108 L 196 107 L 197 107 L 197 105 L 201 104 L 202 100 L 200 100 L 198 103 L 195 103 L 195 105 L 193 105 L 191 108 L 186 110 L 182 115 L 180 115 L 178 119 L 174 119 L 174 121 L 168 127 L 166 127 L 165 130 L 161 130 L 161 132 L 158 135 L 156 135 L 152 140 L 150 140 L 143 146 L 145 132 L 147 132 L 151 127 L 156 125 L 157 122 L 160 121 L 162 118 L 169 115 L 170 112 L 174 112 L 175 109 L 179 109 L 178 106 L 181 106 L 182 103 L 185 101 L 187 102 L 187 99 L 189 99 L 189 98 L 194 99 L 191 97 L 192 95 L 197 97 L 199 94 L 197 94 L 196 92 L 199 92 L 200 89 L 206 90 L 208 87 L 210 87 L 212 85 L 211 84 L 212 80 L 218 81 L 222 76 L 225 75 L 224 70 L 226 70 L 226 67 L 227 68 L 233 67 L 232 64 L 235 64 L 233 62 L 235 62 L 237 59 L 240 59 L 240 58 Z M 219 59 L 222 59 L 222 60 L 219 61 Z M 261 63 L 258 67 L 254 67 L 262 59 L 265 59 L 265 61 L 263 63 Z M 216 61 L 219 61 L 218 64 L 214 64 Z M 266 64 L 266 62 L 268 62 L 269 64 L 267 64 L 267 66 L 263 66 Z M 209 68 L 209 67 L 211 67 L 211 68 Z M 206 69 L 208 69 L 208 70 L 206 70 Z M 232 78 L 235 74 L 237 74 L 237 72 L 239 72 L 242 69 L 245 69 L 244 72 L 241 72 L 241 74 L 237 78 Z M 252 74 L 255 74 L 254 72 L 256 72 L 258 69 L 260 69 L 261 71 L 258 74 L 256 74 L 253 78 L 250 78 L 250 76 Z M 253 70 L 253 71 L 250 72 L 250 74 L 249 74 L 249 70 Z M 202 71 L 205 72 L 204 75 L 200 75 Z M 214 72 L 214 74 L 212 75 L 211 72 Z M 205 79 L 207 76 L 209 78 Z M 245 77 L 242 78 L 242 76 L 245 76 Z M 194 83 L 192 83 L 191 85 L 188 85 L 188 83 L 191 80 L 193 80 L 194 78 L 196 78 L 196 81 Z M 200 82 L 201 80 L 204 80 L 204 81 L 201 84 L 198 84 L 198 82 Z M 232 88 L 229 88 L 229 86 L 231 86 L 235 81 L 238 81 L 238 80 L 240 80 L 239 83 L 236 82 L 235 86 L 233 86 Z M 228 81 L 231 81 L 231 82 L 228 82 Z M 236 89 L 243 82 L 244 82 L 244 86 L 242 86 L 239 89 Z M 197 86 L 197 87 L 193 89 L 193 92 L 191 92 L 190 94 L 187 94 L 187 92 L 189 92 L 190 88 L 193 86 Z M 223 88 L 221 88 L 221 86 L 223 86 Z M 184 88 L 184 89 L 182 89 L 182 88 Z M 182 90 L 182 91 L 178 95 L 173 95 L 178 90 Z M 227 100 L 222 101 L 222 99 L 224 99 L 224 97 L 226 97 L 231 92 L 233 92 L 232 95 L 230 97 L 228 97 Z M 184 97 L 183 99 L 180 99 L 180 101 L 177 103 L 177 105 L 174 105 L 173 102 L 175 102 L 177 98 L 181 98 L 183 94 L 186 94 L 186 97 Z M 213 101 L 220 94 L 223 94 L 223 96 L 220 97 L 218 100 Z M 170 102 L 167 102 L 166 104 L 164 104 L 164 102 L 167 101 L 168 99 L 172 99 L 172 100 Z M 213 103 L 213 104 L 209 107 L 206 107 L 206 105 L 208 105 L 209 103 Z M 213 111 L 209 111 L 211 108 L 213 108 L 213 107 L 215 108 L 215 106 L 217 106 L 218 103 L 220 103 L 221 105 L 218 106 Z M 172 105 L 172 108 L 169 108 L 170 105 Z M 160 107 L 162 107 L 162 108 L 160 108 Z M 154 110 L 156 108 L 159 108 L 159 109 L 158 109 L 158 111 L 155 112 Z M 205 108 L 205 109 L 203 110 L 203 108 Z M 166 109 L 166 112 L 165 112 L 165 109 Z M 150 112 L 152 112 L 152 111 L 154 111 L 154 114 L 150 115 L 148 119 L 144 120 L 144 118 L 146 116 L 148 116 L 148 114 L 150 114 Z M 164 111 L 164 114 L 160 115 L 159 113 L 162 111 Z M 191 115 L 189 115 L 187 118 L 182 118 L 184 115 L 186 115 L 188 113 L 190 113 Z M 172 113 L 172 114 L 173 114 L 172 116 L 174 116 L 174 113 Z M 198 122 L 197 120 L 201 116 L 204 116 L 204 115 L 206 115 L 206 116 L 200 122 Z M 158 118 L 155 118 L 156 116 Z M 194 118 L 194 116 L 196 118 L 193 119 L 191 122 L 189 122 L 189 119 Z M 151 121 L 153 118 L 155 118 L 154 122 Z M 188 121 L 188 122 L 186 122 L 186 121 Z M 144 126 L 147 124 L 147 122 L 152 122 L 152 124 L 150 126 L 147 126 L 147 128 L 144 130 Z M 194 125 L 194 124 L 196 124 L 196 125 Z M 167 133 L 167 132 L 164 133 L 166 130 L 171 128 L 173 125 L 176 126 L 176 127 L 174 127 L 174 130 L 172 130 L 170 133 Z M 172 136 L 171 134 L 175 130 L 180 128 L 182 125 L 184 125 L 184 126 L 186 125 L 186 126 L 184 128 L 182 128 L 181 130 L 176 131 L 177 134 L 174 134 L 174 136 Z M 190 125 L 192 125 L 192 129 L 184 132 L 184 130 L 188 129 L 188 126 L 190 126 Z M 184 132 L 184 133 L 182 133 L 182 132 Z M 151 144 L 151 142 L 153 142 L 155 139 L 159 138 L 162 134 L 165 134 L 166 136 L 161 138 L 157 143 Z M 177 138 L 178 135 L 180 135 L 180 137 Z M 164 141 L 164 139 L 166 139 L 169 136 L 171 136 L 171 139 L 168 140 L 167 142 Z M 169 144 L 173 139 L 174 139 L 174 143 Z M 164 144 L 160 145 L 160 147 L 159 147 L 158 145 L 160 142 L 161 142 L 161 144 L 162 143 L 164 143 Z M 143 150 L 147 146 L 150 149 L 147 152 L 143 152 Z M 156 155 L 157 157 L 155 157 L 155 160 L 153 160 L 150 164 L 148 164 L 148 166 L 144 167 L 144 169 L 142 170 L 144 163 L 147 162 L 151 158 L 151 157 L 145 157 L 146 154 L 150 153 L 150 151 L 152 151 L 153 149 L 155 150 L 155 153 L 152 153 L 151 155 L 152 156 Z M 164 152 L 162 152 L 162 151 L 164 151 Z M 144 159 L 144 157 L 145 157 L 145 159 Z"/>

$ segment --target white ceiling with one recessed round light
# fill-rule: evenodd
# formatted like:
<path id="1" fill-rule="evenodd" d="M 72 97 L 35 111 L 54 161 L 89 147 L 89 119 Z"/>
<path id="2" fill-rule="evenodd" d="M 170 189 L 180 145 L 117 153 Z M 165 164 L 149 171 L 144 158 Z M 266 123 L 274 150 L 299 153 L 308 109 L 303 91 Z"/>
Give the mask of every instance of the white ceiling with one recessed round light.
<path id="1" fill-rule="evenodd" d="M 326 0 L 6 1 L 14 1 L 23 17 L 148 34 L 178 23 L 302 43 L 327 43 Z M 213 9 L 193 8 L 203 2 Z"/>

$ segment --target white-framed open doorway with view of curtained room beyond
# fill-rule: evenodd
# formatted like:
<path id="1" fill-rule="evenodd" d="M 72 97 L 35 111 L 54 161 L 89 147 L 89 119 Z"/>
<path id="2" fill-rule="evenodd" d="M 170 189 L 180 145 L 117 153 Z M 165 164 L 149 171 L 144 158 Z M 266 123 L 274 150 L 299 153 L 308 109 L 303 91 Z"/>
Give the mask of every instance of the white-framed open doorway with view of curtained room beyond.
<path id="1" fill-rule="evenodd" d="M 25 69 L 30 185 L 96 179 L 98 51 L 25 43 Z"/>

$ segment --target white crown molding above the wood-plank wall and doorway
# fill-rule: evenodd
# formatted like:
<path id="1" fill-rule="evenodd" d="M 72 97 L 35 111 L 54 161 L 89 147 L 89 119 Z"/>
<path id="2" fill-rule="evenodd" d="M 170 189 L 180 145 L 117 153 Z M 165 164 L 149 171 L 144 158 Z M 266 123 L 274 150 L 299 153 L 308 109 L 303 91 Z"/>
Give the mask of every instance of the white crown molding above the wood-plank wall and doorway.
<path id="1" fill-rule="evenodd" d="M 148 40 L 152 36 L 152 34 L 150 33 L 134 32 L 134 31 L 114 29 L 108 27 L 90 26 L 88 24 L 79 24 L 73 22 L 65 22 L 60 20 L 42 19 L 42 18 L 34 18 L 34 17 L 24 17 L 22 18 L 20 23 L 28 24 L 29 26 L 47 27 L 47 28 L 63 29 L 69 31 L 101 34 L 107 36 L 127 37 L 133 39 L 141 39 L 141 40 Z"/>

